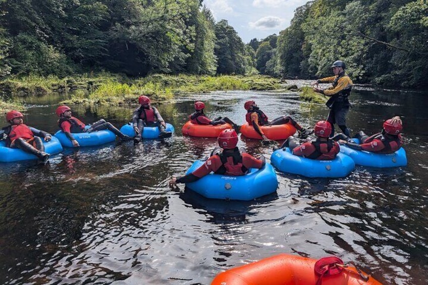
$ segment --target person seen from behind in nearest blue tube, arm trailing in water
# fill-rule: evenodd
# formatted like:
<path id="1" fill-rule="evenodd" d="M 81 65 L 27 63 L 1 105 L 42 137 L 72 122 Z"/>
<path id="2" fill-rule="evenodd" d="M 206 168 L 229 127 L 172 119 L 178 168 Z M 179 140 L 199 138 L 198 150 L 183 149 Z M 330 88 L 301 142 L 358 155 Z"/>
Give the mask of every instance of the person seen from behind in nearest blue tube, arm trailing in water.
<path id="1" fill-rule="evenodd" d="M 262 168 L 264 157 L 257 159 L 236 147 L 238 135 L 235 130 L 226 129 L 218 137 L 219 147 L 216 147 L 203 165 L 191 174 L 170 181 L 170 187 L 176 188 L 177 183 L 191 183 L 213 172 L 215 174 L 241 176 L 248 173 L 250 168 Z"/>

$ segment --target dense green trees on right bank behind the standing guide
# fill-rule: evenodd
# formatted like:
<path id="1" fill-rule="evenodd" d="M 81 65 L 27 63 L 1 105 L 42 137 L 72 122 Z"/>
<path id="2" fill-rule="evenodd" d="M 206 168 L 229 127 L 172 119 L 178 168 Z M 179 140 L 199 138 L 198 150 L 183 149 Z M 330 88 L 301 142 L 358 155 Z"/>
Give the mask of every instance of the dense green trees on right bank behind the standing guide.
<path id="1" fill-rule="evenodd" d="M 278 36 L 277 48 L 267 50 L 268 42 L 269 37 L 250 42 L 257 48 L 262 74 L 326 77 L 332 75 L 331 64 L 343 60 L 354 82 L 428 86 L 425 0 L 311 1 L 295 11 L 290 27 Z M 274 60 L 266 61 L 268 52 Z"/>

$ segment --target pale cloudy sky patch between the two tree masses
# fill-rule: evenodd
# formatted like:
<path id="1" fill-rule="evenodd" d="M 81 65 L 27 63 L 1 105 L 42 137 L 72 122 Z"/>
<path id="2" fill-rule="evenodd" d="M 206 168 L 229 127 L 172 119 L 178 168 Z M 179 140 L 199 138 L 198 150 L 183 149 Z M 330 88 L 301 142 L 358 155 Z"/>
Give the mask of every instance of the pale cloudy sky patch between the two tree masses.
<path id="1" fill-rule="evenodd" d="M 204 0 L 216 22 L 225 19 L 244 43 L 263 39 L 290 26 L 294 10 L 307 0 Z"/>

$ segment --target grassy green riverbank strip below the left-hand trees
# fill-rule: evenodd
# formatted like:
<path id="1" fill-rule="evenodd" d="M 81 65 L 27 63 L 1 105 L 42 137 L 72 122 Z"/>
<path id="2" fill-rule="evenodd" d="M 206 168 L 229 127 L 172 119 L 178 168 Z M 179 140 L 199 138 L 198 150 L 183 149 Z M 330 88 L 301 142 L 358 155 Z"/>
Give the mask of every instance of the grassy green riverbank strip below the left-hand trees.
<path id="1" fill-rule="evenodd" d="M 27 96 L 49 92 L 65 94 L 64 104 L 124 105 L 135 103 L 141 94 L 153 100 L 169 100 L 176 94 L 217 90 L 277 90 L 281 80 L 268 76 L 190 76 L 154 74 L 131 79 L 122 75 L 100 73 L 70 78 L 55 76 L 11 77 L 0 82 L 0 111 L 23 108 Z M 7 103 L 6 103 L 7 102 Z"/>

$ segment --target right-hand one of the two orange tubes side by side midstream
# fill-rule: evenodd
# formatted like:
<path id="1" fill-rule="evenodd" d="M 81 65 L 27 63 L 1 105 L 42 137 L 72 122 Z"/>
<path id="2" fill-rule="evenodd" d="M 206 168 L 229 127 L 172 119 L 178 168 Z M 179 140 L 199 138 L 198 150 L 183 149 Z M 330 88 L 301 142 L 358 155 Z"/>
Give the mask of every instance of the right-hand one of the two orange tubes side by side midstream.
<path id="1" fill-rule="evenodd" d="M 260 126 L 263 134 L 271 140 L 286 140 L 289 136 L 294 135 L 296 128 L 291 124 Z M 254 130 L 253 126 L 245 123 L 241 126 L 241 133 L 250 139 L 261 140 L 261 136 Z"/>

